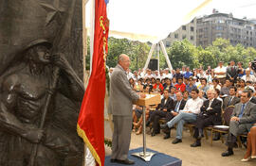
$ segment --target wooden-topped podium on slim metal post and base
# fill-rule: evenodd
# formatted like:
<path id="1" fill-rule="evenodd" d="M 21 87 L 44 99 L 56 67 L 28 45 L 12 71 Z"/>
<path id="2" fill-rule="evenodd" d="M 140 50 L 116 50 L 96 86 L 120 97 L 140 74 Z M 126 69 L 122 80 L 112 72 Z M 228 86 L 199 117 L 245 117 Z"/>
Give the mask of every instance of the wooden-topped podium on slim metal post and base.
<path id="1" fill-rule="evenodd" d="M 146 94 L 146 93 L 145 93 Z M 146 162 L 149 162 L 151 158 L 155 155 L 153 152 L 146 151 L 146 113 L 145 107 L 150 105 L 157 105 L 161 103 L 161 95 L 159 93 L 146 94 L 146 98 L 140 98 L 135 103 L 138 106 L 142 107 L 142 118 L 143 118 L 143 152 L 137 152 L 132 154 L 138 158 L 144 159 Z"/>

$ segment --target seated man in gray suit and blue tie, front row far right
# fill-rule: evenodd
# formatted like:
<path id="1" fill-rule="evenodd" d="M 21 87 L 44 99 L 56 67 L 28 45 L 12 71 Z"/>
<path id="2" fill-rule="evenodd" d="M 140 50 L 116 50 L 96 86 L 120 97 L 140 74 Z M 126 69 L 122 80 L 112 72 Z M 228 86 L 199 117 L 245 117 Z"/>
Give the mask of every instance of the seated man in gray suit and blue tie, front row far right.
<path id="1" fill-rule="evenodd" d="M 249 102 L 250 95 L 250 91 L 243 91 L 241 102 L 235 105 L 229 123 L 228 151 L 222 153 L 222 157 L 229 157 L 234 154 L 233 147 L 236 137 L 239 134 L 247 133 L 253 123 L 256 122 L 256 105 Z"/>

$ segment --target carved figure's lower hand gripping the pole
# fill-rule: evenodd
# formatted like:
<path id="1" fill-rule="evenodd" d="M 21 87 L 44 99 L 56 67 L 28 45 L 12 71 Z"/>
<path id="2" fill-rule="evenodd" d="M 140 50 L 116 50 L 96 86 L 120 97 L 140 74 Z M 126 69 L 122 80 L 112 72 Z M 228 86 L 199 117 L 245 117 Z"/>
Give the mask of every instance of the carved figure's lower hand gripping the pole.
<path id="1" fill-rule="evenodd" d="M 32 143 L 39 143 L 44 139 L 45 132 L 43 129 L 29 128 L 23 137 Z"/>

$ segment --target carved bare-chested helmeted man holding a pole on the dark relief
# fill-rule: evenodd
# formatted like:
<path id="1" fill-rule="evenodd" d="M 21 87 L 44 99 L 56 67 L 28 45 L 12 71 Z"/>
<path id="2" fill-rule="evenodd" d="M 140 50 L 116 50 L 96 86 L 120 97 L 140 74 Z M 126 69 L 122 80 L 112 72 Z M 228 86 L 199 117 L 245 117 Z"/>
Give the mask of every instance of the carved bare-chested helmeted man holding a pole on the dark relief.
<path id="1" fill-rule="evenodd" d="M 1 75 L 1 166 L 27 166 L 35 144 L 38 145 L 35 166 L 82 164 L 82 141 L 75 142 L 73 136 L 66 132 L 68 128 L 64 131 L 59 126 L 69 123 L 69 115 L 55 112 L 58 105 L 64 105 L 63 102 L 57 103 L 55 98 L 64 95 L 71 101 L 82 102 L 83 84 L 64 55 L 51 54 L 51 48 L 52 44 L 46 40 L 30 42 L 19 53 L 19 60 Z M 54 75 L 56 68 L 59 69 L 58 75 Z M 51 86 L 53 80 L 57 80 L 56 87 Z M 44 127 L 40 128 L 48 93 L 52 98 L 48 103 Z M 64 118 L 56 120 L 60 116 Z"/>

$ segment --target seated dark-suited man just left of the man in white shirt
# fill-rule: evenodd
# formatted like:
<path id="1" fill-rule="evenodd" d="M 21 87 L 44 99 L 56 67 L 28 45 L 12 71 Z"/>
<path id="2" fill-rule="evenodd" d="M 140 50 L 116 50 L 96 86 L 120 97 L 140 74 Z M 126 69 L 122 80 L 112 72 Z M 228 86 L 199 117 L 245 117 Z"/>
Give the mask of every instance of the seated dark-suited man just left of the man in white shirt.
<path id="1" fill-rule="evenodd" d="M 183 100 L 182 92 L 178 91 L 176 93 L 176 100 L 174 101 L 174 108 L 171 110 L 171 112 L 167 112 L 165 121 L 169 122 L 171 121 L 175 116 L 178 115 L 179 110 L 182 110 L 186 105 L 186 101 Z M 171 130 L 167 130 L 165 132 L 164 139 L 169 139 L 171 136 Z"/>

